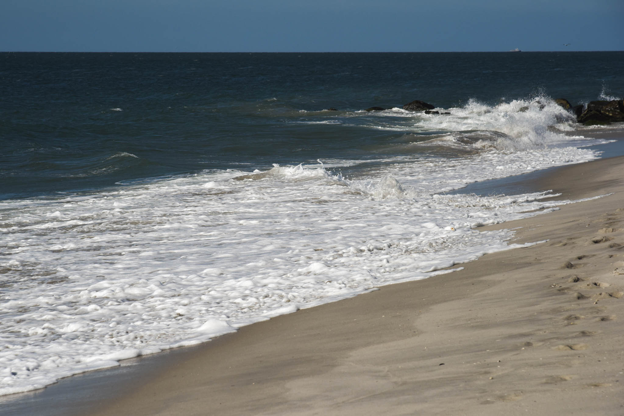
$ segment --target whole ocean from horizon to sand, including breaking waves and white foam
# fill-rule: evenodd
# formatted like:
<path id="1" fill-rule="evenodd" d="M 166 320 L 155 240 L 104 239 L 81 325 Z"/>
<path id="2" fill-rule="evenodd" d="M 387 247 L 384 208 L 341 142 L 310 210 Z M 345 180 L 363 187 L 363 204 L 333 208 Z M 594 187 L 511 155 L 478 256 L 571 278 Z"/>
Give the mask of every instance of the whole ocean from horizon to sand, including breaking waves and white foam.
<path id="1" fill-rule="evenodd" d="M 622 99 L 623 64 L 0 53 L 0 394 L 514 248 L 479 226 L 569 201 L 461 189 L 605 156 L 622 126 L 554 99 Z"/>

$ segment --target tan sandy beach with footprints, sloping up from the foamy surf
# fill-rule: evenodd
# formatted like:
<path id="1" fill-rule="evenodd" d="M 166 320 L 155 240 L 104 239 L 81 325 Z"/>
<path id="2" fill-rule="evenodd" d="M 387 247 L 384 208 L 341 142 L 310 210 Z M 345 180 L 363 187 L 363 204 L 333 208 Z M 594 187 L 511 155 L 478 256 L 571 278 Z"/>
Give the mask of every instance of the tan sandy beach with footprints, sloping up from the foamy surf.
<path id="1" fill-rule="evenodd" d="M 547 243 L 243 327 L 94 414 L 624 415 L 623 173 L 560 168 L 613 195 L 496 226 Z"/>

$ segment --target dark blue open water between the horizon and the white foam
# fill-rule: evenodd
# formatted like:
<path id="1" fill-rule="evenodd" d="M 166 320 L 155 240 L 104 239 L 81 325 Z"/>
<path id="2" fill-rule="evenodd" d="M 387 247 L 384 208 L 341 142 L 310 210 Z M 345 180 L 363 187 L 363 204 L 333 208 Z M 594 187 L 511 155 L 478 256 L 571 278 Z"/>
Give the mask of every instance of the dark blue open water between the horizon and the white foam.
<path id="1" fill-rule="evenodd" d="M 415 99 L 450 109 L 470 99 L 621 98 L 622 67 L 624 52 L 5 52 L 0 199 L 206 169 L 392 157 L 406 140 L 396 130 L 413 121 L 354 112 Z M 340 111 L 321 111 L 330 107 Z"/>

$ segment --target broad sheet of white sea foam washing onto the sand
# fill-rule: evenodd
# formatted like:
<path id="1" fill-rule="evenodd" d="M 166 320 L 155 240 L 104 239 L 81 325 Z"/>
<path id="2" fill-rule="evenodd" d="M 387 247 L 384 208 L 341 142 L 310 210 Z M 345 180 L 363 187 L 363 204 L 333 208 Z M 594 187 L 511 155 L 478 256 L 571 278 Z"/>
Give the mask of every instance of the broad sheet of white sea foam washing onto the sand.
<path id="1" fill-rule="evenodd" d="M 358 180 L 274 165 L 1 201 L 0 394 L 447 273 L 509 247 L 511 231 L 475 227 L 557 203 L 438 192 L 592 158 L 572 147 L 487 150 L 386 163 Z"/>

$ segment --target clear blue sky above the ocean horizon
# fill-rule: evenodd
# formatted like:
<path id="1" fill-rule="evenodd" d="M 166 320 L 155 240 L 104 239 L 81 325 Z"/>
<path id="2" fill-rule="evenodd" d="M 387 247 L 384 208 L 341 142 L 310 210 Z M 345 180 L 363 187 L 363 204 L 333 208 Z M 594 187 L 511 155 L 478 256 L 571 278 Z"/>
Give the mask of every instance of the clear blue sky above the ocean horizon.
<path id="1" fill-rule="evenodd" d="M 622 51 L 623 17 L 624 0 L 1 0 L 0 51 Z"/>

